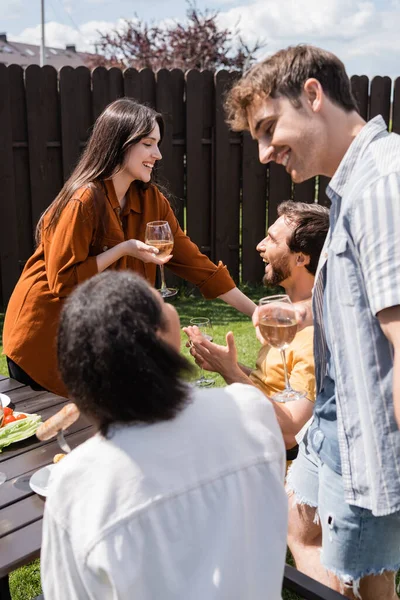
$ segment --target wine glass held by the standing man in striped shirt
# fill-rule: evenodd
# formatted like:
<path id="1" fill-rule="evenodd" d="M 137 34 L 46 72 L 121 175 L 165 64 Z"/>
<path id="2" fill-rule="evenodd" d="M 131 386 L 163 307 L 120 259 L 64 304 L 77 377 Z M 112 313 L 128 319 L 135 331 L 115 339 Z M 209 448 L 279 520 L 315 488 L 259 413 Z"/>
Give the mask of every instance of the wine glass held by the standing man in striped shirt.
<path id="1" fill-rule="evenodd" d="M 285 389 L 272 396 L 276 402 L 290 402 L 304 398 L 303 392 L 294 390 L 287 373 L 285 350 L 293 341 L 297 331 L 297 321 L 294 306 L 286 294 L 267 296 L 259 301 L 260 310 L 259 328 L 261 335 L 270 346 L 278 348 L 281 352 L 283 369 L 285 373 Z"/>

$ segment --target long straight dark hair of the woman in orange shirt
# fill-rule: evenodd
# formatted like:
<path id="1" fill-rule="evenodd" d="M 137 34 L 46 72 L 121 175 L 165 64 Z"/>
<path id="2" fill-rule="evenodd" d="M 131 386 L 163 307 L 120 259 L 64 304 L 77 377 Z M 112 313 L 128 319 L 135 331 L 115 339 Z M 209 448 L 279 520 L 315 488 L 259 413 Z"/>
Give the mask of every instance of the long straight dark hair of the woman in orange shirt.
<path id="1" fill-rule="evenodd" d="M 156 124 L 162 139 L 164 121 L 161 114 L 132 98 L 120 98 L 105 108 L 94 124 L 92 135 L 72 175 L 40 217 L 36 227 L 37 244 L 41 241 L 45 215 L 50 215 L 46 229 L 54 229 L 74 192 L 85 186 L 93 186 L 95 192 L 98 182 L 118 173 L 129 146 L 149 136 Z M 94 193 L 94 209 L 99 214 L 100 207 L 96 206 L 96 199 L 97 194 Z"/>

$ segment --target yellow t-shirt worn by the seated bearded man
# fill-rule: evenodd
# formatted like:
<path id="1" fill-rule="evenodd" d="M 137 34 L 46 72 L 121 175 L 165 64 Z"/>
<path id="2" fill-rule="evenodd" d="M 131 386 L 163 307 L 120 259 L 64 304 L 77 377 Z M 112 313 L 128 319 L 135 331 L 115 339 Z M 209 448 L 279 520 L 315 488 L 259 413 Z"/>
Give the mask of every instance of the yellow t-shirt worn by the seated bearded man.
<path id="1" fill-rule="evenodd" d="M 315 371 L 313 354 L 314 327 L 305 327 L 298 333 L 286 350 L 286 364 L 290 385 L 294 390 L 305 392 L 309 400 L 315 401 Z M 256 368 L 250 375 L 251 381 L 271 397 L 285 387 L 281 353 L 267 344 L 258 353 Z"/>

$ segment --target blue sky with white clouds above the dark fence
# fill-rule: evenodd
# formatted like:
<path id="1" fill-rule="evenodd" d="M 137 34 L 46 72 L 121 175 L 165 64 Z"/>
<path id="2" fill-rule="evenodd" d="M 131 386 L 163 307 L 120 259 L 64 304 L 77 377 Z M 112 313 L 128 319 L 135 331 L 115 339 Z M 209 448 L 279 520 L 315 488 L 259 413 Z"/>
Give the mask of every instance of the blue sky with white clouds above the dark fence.
<path id="1" fill-rule="evenodd" d="M 183 21 L 185 0 L 45 0 L 46 45 L 94 51 L 98 32 L 123 19 Z M 312 43 L 337 54 L 349 75 L 400 76 L 400 0 L 197 0 L 219 11 L 221 27 L 237 28 L 258 58 L 291 44 Z M 0 32 L 40 43 L 40 0 L 0 0 Z"/>

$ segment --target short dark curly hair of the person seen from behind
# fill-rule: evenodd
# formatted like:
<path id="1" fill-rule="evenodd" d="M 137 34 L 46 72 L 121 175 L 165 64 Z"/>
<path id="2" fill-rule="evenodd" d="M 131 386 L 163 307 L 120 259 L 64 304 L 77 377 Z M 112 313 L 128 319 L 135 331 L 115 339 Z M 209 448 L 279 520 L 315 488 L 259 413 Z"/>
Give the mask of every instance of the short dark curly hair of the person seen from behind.
<path id="1" fill-rule="evenodd" d="M 113 423 L 173 419 L 188 402 L 190 363 L 157 331 L 166 323 L 154 291 L 138 275 L 106 271 L 66 300 L 58 364 L 69 396 L 106 436 Z"/>

